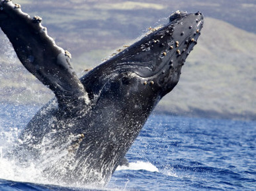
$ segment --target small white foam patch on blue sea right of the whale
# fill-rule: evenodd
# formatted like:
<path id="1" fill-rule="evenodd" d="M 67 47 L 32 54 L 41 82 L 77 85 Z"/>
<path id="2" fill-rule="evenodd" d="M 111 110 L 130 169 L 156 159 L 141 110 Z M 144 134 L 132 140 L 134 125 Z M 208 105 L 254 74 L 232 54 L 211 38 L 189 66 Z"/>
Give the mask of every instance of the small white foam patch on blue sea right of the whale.
<path id="1" fill-rule="evenodd" d="M 122 170 L 132 170 L 132 171 L 139 171 L 139 170 L 145 170 L 150 172 L 159 172 L 157 167 L 149 162 L 144 161 L 136 161 L 135 163 L 129 163 L 129 166 L 119 166 L 117 167 L 116 171 L 122 171 Z"/>

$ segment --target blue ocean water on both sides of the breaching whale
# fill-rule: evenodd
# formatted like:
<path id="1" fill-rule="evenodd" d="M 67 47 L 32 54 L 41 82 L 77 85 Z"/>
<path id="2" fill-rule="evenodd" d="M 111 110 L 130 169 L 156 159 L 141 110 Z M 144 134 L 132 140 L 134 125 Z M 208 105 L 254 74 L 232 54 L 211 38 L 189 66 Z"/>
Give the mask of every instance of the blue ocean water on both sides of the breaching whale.
<path id="1" fill-rule="evenodd" d="M 0 106 L 0 190 L 88 189 L 38 184 L 3 159 L 39 108 Z M 126 158 L 103 190 L 256 190 L 256 121 L 151 115 Z"/>

